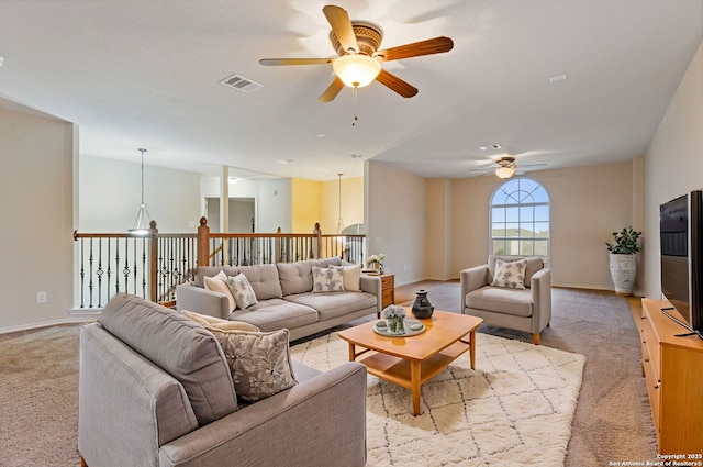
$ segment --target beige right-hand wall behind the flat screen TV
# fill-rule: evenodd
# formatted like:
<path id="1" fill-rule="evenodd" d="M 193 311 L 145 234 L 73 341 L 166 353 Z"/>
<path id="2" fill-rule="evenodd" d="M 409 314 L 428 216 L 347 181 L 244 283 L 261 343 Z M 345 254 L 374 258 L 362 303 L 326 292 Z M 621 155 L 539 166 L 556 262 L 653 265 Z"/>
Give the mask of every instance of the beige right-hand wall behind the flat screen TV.
<path id="1" fill-rule="evenodd" d="M 646 154 L 645 294 L 661 297 L 659 205 L 703 189 L 703 42 L 689 65 Z"/>

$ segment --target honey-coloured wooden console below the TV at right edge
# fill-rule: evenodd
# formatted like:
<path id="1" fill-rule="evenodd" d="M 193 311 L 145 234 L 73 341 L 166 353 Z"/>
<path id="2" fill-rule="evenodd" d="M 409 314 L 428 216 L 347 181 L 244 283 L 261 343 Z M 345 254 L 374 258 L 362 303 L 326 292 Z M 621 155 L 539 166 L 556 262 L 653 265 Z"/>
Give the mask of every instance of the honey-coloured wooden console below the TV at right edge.
<path id="1" fill-rule="evenodd" d="M 703 341 L 661 311 L 671 304 L 643 299 L 643 370 L 660 454 L 703 454 Z M 668 310 L 678 319 L 676 310 Z M 687 460 L 701 460 L 700 457 Z"/>

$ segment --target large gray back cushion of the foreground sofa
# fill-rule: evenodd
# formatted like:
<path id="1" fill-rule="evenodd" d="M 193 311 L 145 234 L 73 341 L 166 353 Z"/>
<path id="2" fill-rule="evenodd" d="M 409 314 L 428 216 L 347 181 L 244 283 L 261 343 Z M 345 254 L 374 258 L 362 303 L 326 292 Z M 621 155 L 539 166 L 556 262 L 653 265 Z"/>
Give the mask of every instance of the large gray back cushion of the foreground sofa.
<path id="1" fill-rule="evenodd" d="M 237 410 L 222 347 L 175 310 L 120 293 L 102 310 L 102 326 L 183 385 L 200 425 Z"/>

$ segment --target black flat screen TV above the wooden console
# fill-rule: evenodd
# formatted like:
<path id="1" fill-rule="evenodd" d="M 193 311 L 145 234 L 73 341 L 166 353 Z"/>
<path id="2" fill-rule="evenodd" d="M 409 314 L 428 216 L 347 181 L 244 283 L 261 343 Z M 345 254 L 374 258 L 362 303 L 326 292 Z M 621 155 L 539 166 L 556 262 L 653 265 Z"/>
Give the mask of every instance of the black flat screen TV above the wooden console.
<path id="1" fill-rule="evenodd" d="M 703 331 L 703 191 L 659 207 L 661 293 L 691 330 Z"/>

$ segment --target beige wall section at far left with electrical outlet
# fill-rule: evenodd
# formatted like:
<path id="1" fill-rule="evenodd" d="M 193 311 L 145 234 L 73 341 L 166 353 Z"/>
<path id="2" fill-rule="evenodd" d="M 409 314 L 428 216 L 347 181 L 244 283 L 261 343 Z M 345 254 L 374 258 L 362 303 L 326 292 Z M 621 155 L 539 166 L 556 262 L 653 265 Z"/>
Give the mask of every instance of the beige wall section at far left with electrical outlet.
<path id="1" fill-rule="evenodd" d="M 74 132 L 0 109 L 0 330 L 62 321 L 72 307 Z"/>

